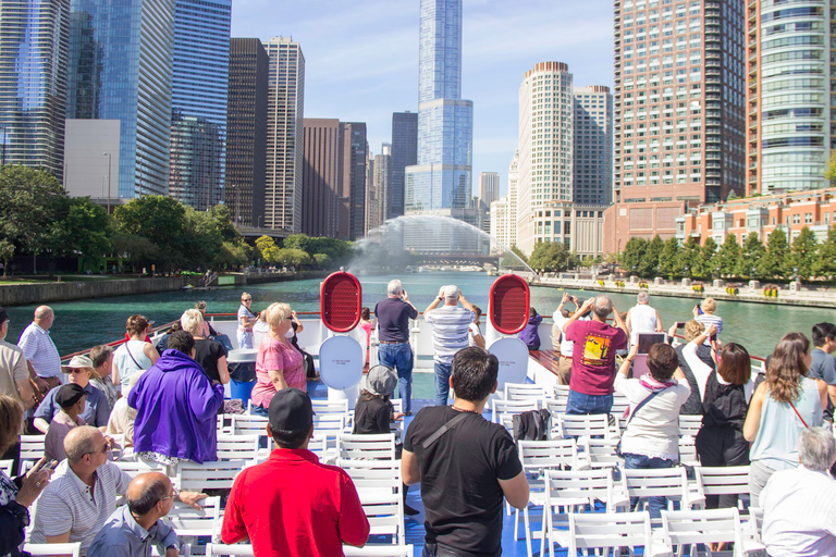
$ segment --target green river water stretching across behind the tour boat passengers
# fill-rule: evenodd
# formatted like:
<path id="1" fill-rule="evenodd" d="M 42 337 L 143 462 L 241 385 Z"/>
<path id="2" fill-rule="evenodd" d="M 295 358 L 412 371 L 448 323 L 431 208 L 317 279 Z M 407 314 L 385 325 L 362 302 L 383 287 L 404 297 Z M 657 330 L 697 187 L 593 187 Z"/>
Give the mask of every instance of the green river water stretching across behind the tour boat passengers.
<path id="1" fill-rule="evenodd" d="M 373 309 L 374 304 L 385 297 L 386 283 L 393 277 L 360 276 L 364 305 Z M 495 280 L 480 273 L 456 272 L 405 274 L 398 278 L 403 281 L 404 288 L 419 311 L 423 311 L 438 296 L 439 288 L 445 284 L 458 285 L 468 300 L 487 310 L 490 286 Z M 246 290 L 253 295 L 255 311 L 274 301 L 287 302 L 296 311 L 318 311 L 319 284 L 319 280 L 290 281 L 253 285 Z M 581 298 L 595 295 L 593 292 L 569 292 Z M 235 312 L 241 293 L 239 287 L 221 287 L 208 292 L 181 290 L 56 302 L 51 305 L 56 311 L 52 338 L 61 354 L 83 350 L 123 336 L 125 319 L 133 313 L 143 313 L 162 324 L 179 319 L 185 309 L 194 307 L 198 300 L 208 302 L 209 312 Z M 540 313 L 550 315 L 560 304 L 562 295 L 563 292 L 556 288 L 534 286 L 531 288 L 531 304 Z M 636 304 L 635 295 L 611 296 L 620 311 L 627 311 Z M 667 329 L 675 321 L 691 319 L 694 300 L 651 294 L 651 305 L 659 310 Z M 21 331 L 32 321 L 34 309 L 35 306 L 7 308 L 11 319 L 8 341 L 17 341 Z M 836 312 L 826 308 L 718 301 L 716 313 L 725 320 L 721 335 L 723 341 L 740 343 L 750 354 L 758 356 L 770 354 L 785 333 L 801 331 L 809 336 L 813 324 L 822 321 L 836 322 Z"/>

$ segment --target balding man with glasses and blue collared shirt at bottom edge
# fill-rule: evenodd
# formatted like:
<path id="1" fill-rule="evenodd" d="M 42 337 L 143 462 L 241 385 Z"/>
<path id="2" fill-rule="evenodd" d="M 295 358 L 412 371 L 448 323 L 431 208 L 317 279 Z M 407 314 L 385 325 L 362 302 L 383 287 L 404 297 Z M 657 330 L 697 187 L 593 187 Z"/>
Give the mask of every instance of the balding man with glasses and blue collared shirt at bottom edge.
<path id="1" fill-rule="evenodd" d="M 159 555 L 177 557 L 177 534 L 162 519 L 171 512 L 176 490 L 160 472 L 147 472 L 127 486 L 127 505 L 118 508 L 87 550 L 88 557 L 150 557 L 151 544 Z"/>

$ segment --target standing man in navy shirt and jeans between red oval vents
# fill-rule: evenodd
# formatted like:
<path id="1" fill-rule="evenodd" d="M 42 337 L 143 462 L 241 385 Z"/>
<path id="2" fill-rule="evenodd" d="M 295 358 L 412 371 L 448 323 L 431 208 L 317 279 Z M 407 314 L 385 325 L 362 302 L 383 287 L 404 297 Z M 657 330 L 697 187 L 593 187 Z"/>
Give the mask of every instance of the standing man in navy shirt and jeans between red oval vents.
<path id="1" fill-rule="evenodd" d="M 378 362 L 397 370 L 397 393 L 404 414 L 413 414 L 413 366 L 415 356 L 409 344 L 409 320 L 418 319 L 418 310 L 401 281 L 386 285 L 386 298 L 374 306 L 378 320 Z"/>

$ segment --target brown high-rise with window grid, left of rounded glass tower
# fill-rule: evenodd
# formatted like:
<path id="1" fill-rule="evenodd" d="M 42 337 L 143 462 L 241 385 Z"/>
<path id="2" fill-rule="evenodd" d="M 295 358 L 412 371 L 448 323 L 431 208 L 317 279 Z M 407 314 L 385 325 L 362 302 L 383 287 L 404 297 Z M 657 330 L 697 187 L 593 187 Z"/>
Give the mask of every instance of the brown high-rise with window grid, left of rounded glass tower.
<path id="1" fill-rule="evenodd" d="M 746 4 L 615 0 L 615 207 L 607 251 L 668 238 L 688 205 L 745 186 Z"/>

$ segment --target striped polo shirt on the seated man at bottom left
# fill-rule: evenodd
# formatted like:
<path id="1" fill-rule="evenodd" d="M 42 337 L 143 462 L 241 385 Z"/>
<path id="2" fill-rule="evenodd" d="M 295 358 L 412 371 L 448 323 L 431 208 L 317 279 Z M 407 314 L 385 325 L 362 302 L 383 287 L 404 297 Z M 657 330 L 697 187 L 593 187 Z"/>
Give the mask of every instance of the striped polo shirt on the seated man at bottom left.
<path id="1" fill-rule="evenodd" d="M 38 498 L 32 543 L 45 544 L 47 536 L 70 532 L 70 542 L 82 543 L 82 555 L 96 534 L 116 510 L 116 495 L 124 495 L 131 476 L 113 462 L 104 462 L 96 470 L 93 488 L 75 475 L 63 460 L 52 481 Z"/>

